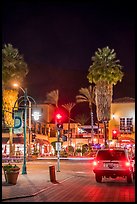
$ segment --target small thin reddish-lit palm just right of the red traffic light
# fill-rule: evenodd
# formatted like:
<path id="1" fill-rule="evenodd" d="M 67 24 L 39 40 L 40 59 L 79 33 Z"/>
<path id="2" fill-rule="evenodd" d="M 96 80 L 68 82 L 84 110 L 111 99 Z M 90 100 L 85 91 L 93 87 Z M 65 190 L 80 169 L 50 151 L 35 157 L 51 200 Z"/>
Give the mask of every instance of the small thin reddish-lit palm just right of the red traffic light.
<path id="1" fill-rule="evenodd" d="M 72 108 L 76 105 L 76 103 L 67 103 L 62 105 L 63 108 L 65 108 L 68 111 L 68 145 L 69 145 L 69 134 L 70 134 L 70 113 Z M 71 141 L 70 141 L 70 146 L 71 146 Z"/>

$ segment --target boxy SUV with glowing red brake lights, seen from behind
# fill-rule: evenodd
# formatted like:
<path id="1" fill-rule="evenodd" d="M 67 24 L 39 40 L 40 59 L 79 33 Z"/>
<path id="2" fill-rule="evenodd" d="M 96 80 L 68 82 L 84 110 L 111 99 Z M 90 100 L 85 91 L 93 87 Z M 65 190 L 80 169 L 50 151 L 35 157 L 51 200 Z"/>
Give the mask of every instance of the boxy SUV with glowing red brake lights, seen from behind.
<path id="1" fill-rule="evenodd" d="M 93 172 L 96 182 L 101 183 L 102 178 L 127 178 L 127 183 L 132 183 L 133 168 L 124 149 L 100 149 L 93 161 Z"/>

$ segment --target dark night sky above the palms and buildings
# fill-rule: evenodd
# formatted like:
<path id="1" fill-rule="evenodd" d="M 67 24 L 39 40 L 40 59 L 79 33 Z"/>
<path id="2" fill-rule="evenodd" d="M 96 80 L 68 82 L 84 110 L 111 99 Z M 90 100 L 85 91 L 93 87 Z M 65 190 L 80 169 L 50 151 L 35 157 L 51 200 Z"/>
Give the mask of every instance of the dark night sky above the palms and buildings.
<path id="1" fill-rule="evenodd" d="M 36 101 L 59 89 L 59 103 L 88 87 L 98 48 L 117 53 L 125 76 L 113 98 L 135 97 L 134 1 L 3 1 L 2 44 L 17 48 L 29 67 L 28 93 Z M 22 84 L 22 87 L 24 86 Z"/>

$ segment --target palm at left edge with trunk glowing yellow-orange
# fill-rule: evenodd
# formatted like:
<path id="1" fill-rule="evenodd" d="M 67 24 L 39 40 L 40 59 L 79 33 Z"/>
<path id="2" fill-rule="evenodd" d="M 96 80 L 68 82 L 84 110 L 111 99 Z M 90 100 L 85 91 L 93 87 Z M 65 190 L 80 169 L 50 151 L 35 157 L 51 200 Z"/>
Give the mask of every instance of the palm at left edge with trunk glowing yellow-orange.
<path id="1" fill-rule="evenodd" d="M 12 155 L 12 109 L 18 97 L 17 90 L 8 87 L 12 81 L 22 82 L 28 74 L 28 67 L 18 49 L 11 44 L 4 45 L 2 49 L 2 100 L 4 123 L 9 128 L 10 133 L 10 156 Z"/>

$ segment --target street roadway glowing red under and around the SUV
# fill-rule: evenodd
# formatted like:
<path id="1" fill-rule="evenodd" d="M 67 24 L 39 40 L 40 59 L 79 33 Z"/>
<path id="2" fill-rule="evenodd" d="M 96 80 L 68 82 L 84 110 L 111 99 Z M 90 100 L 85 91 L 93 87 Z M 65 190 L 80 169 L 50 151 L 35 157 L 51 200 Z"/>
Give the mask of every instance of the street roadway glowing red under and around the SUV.
<path id="1" fill-rule="evenodd" d="M 27 163 L 30 172 L 48 171 L 49 165 L 55 165 L 56 160 L 42 160 Z M 67 173 L 68 177 L 55 184 L 41 189 L 33 196 L 23 197 L 3 202 L 135 202 L 135 183 L 128 184 L 125 178 L 106 179 L 96 183 L 92 172 L 92 161 L 61 160 L 58 175 Z M 26 187 L 27 188 L 27 187 Z"/>

